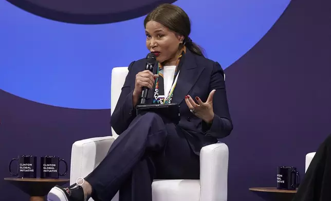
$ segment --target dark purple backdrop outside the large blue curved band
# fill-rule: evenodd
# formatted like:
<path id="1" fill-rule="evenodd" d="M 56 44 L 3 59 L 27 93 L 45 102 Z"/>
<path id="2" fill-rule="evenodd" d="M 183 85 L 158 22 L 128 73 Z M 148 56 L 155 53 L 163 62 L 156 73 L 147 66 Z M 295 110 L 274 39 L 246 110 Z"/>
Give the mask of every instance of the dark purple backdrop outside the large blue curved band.
<path id="1" fill-rule="evenodd" d="M 225 70 L 234 123 L 223 139 L 230 150 L 230 201 L 260 200 L 248 188 L 275 186 L 277 166 L 297 166 L 303 175 L 305 154 L 331 133 L 330 10 L 329 0 L 293 0 L 261 41 Z M 109 110 L 52 107 L 0 90 L 0 175 L 10 176 L 7 164 L 19 154 L 70 162 L 72 143 L 110 135 L 109 120 Z M 4 180 L 0 194 L 27 199 Z"/>

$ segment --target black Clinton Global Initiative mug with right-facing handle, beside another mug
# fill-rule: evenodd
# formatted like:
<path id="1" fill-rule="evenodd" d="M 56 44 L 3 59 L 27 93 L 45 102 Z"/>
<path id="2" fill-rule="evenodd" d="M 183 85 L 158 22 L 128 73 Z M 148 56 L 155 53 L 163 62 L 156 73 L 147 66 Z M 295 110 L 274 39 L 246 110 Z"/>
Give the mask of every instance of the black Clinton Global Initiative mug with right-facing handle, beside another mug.
<path id="1" fill-rule="evenodd" d="M 65 164 L 65 172 L 60 174 L 60 162 Z M 68 164 L 64 159 L 58 156 L 42 156 L 40 157 L 40 178 L 59 178 L 67 174 Z"/>

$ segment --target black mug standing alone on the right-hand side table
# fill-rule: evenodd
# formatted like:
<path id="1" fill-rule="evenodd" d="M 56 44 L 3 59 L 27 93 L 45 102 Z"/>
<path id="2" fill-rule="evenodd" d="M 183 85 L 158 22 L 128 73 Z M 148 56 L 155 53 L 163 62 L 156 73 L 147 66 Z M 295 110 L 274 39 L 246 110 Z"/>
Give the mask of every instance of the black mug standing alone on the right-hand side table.
<path id="1" fill-rule="evenodd" d="M 300 174 L 296 167 L 282 166 L 277 169 L 277 189 L 295 190 L 300 184 Z"/>

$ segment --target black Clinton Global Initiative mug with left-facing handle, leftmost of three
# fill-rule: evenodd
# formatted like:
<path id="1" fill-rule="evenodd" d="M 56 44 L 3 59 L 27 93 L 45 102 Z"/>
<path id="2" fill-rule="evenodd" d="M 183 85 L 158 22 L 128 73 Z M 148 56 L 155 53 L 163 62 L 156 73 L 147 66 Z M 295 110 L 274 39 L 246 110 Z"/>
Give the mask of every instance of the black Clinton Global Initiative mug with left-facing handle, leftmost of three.
<path id="1" fill-rule="evenodd" d="M 17 160 L 17 173 L 11 171 L 11 164 Z M 11 175 L 19 178 L 36 178 L 37 157 L 32 155 L 19 155 L 10 160 L 8 169 Z"/>

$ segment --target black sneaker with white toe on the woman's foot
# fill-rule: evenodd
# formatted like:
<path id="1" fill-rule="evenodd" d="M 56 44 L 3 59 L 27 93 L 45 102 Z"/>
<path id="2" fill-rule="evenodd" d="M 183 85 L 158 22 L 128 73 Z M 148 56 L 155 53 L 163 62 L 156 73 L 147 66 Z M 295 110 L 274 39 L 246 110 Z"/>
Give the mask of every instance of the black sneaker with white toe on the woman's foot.
<path id="1" fill-rule="evenodd" d="M 69 187 L 54 186 L 47 195 L 48 201 L 84 201 L 83 188 L 77 184 Z"/>

